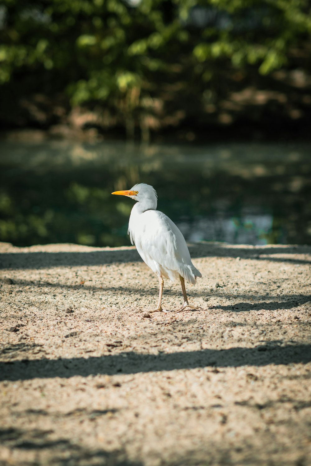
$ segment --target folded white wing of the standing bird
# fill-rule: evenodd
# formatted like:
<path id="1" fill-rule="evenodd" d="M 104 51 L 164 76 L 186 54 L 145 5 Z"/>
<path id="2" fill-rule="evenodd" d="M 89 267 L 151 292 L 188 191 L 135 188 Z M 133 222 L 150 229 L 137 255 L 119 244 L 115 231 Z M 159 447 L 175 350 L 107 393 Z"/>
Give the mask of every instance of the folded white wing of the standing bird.
<path id="1" fill-rule="evenodd" d="M 135 228 L 135 245 L 139 254 L 156 273 L 171 280 L 183 276 L 195 283 L 200 272 L 191 262 L 186 241 L 179 228 L 164 213 L 148 210 Z"/>

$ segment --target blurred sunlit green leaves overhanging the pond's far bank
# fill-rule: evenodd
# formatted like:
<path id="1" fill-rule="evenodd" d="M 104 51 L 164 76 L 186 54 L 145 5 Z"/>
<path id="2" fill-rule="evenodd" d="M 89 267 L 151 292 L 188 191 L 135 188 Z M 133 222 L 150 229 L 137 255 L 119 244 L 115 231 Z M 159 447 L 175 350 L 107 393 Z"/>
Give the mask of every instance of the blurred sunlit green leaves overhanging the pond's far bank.
<path id="1" fill-rule="evenodd" d="M 24 80 L 27 94 L 32 76 L 36 90 L 108 105 L 121 119 L 173 83 L 200 100 L 208 81 L 217 97 L 224 69 L 292 66 L 293 48 L 310 41 L 310 13 L 307 0 L 4 0 L 0 93 Z"/>

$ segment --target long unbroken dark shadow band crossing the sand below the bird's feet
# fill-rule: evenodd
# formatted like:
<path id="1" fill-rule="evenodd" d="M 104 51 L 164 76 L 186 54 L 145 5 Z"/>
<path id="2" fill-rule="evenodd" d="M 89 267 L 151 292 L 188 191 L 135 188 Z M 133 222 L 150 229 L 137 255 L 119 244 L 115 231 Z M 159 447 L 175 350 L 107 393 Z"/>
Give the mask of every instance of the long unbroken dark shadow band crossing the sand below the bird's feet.
<path id="1" fill-rule="evenodd" d="M 0 380 L 28 380 L 48 377 L 88 377 L 97 374 L 137 374 L 198 367 L 265 366 L 308 363 L 311 345 L 280 346 L 269 342 L 255 348 L 203 349 L 158 355 L 123 352 L 116 355 L 71 359 L 22 359 L 0 363 Z"/>

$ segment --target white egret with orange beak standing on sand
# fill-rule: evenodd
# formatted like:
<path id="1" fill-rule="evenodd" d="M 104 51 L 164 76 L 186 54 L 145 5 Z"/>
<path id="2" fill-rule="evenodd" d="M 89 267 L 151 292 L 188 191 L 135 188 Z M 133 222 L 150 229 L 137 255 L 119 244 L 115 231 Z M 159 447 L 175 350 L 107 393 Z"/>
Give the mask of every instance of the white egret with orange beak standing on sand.
<path id="1" fill-rule="evenodd" d="M 171 281 L 180 278 L 184 304 L 177 312 L 187 306 L 195 309 L 195 306 L 188 303 L 185 280 L 194 285 L 196 278 L 202 275 L 191 261 L 185 238 L 179 228 L 167 215 L 156 210 L 158 197 L 153 187 L 140 183 L 128 191 L 115 191 L 111 194 L 127 196 L 138 201 L 131 210 L 127 233 L 141 258 L 159 277 L 158 306 L 151 312 L 163 310 L 163 277 Z"/>

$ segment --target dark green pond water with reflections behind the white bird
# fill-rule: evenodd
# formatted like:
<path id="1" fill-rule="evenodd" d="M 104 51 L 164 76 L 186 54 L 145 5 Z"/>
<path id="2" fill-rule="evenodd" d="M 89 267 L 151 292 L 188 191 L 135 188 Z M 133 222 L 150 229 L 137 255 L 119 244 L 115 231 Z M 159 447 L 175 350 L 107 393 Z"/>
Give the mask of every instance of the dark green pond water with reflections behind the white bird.
<path id="1" fill-rule="evenodd" d="M 189 241 L 311 243 L 310 145 L 0 144 L 0 240 L 129 244 L 133 201 L 153 185 Z M 117 199 L 116 199 L 117 198 Z"/>

